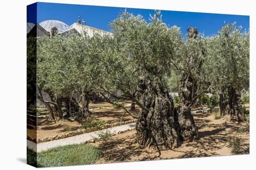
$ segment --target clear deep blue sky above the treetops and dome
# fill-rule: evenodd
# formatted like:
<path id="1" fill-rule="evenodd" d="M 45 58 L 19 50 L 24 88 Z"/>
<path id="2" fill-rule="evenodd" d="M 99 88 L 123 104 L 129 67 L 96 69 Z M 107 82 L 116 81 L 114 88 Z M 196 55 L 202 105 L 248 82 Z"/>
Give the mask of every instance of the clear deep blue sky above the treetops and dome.
<path id="1" fill-rule="evenodd" d="M 27 8 L 28 13 L 33 13 L 33 9 Z M 27 16 L 27 22 L 37 22 L 54 19 L 60 20 L 67 25 L 72 25 L 77 21 L 78 15 L 86 21 L 86 25 L 109 31 L 108 23 L 116 19 L 121 11 L 125 8 L 107 7 L 107 6 L 86 6 L 86 5 L 71 5 L 71 4 L 56 4 L 56 3 L 37 3 L 37 21 L 31 16 Z M 135 15 L 141 14 L 148 21 L 149 13 L 154 14 L 152 9 L 135 9 L 127 8 L 129 13 Z M 224 21 L 227 23 L 236 22 L 237 25 L 242 25 L 243 30 L 249 29 L 249 16 L 243 15 L 228 15 L 214 13 L 191 13 L 178 11 L 162 10 L 162 20 L 167 25 L 177 25 L 181 27 L 182 34 L 185 35 L 189 26 L 197 27 L 197 30 L 204 33 L 205 36 L 217 34 Z"/>

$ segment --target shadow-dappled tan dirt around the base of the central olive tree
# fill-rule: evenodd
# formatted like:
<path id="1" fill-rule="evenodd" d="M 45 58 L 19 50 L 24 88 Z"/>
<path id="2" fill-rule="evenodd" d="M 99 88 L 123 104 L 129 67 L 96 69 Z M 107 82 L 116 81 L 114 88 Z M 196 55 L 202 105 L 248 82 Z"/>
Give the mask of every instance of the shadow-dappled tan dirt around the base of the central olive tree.
<path id="1" fill-rule="evenodd" d="M 115 135 L 109 142 L 91 143 L 101 148 L 104 155 L 97 163 L 117 163 L 142 160 L 159 160 L 187 157 L 231 155 L 230 137 L 239 135 L 243 139 L 241 154 L 249 153 L 249 127 L 246 123 L 215 120 L 214 113 L 195 113 L 198 139 L 183 142 L 175 150 L 159 152 L 154 148 L 143 148 L 133 143 L 135 130 Z"/>

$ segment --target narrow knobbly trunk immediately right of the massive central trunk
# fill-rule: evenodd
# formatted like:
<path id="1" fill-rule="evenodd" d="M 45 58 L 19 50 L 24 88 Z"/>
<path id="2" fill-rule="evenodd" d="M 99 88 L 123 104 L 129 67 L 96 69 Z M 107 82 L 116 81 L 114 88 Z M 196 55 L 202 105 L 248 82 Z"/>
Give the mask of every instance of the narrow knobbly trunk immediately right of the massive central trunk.
<path id="1" fill-rule="evenodd" d="M 176 119 L 180 126 L 180 135 L 182 139 L 192 141 L 197 138 L 198 130 L 195 126 L 193 115 L 191 114 L 192 107 L 192 91 L 193 78 L 188 74 L 182 74 L 181 87 L 179 89 L 179 96 L 181 99 L 180 105 L 175 107 Z"/>

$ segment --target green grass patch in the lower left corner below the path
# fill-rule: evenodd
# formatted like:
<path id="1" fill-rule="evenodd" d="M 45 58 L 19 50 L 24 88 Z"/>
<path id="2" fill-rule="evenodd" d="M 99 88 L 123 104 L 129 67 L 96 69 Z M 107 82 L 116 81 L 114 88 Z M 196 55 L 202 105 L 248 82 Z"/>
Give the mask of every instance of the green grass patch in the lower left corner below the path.
<path id="1" fill-rule="evenodd" d="M 31 165 L 36 164 L 34 151 L 27 149 Z M 37 167 L 55 167 L 94 164 L 101 157 L 101 150 L 88 144 L 66 145 L 37 154 Z"/>

